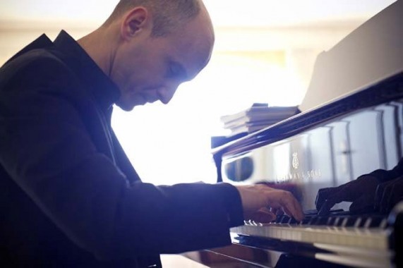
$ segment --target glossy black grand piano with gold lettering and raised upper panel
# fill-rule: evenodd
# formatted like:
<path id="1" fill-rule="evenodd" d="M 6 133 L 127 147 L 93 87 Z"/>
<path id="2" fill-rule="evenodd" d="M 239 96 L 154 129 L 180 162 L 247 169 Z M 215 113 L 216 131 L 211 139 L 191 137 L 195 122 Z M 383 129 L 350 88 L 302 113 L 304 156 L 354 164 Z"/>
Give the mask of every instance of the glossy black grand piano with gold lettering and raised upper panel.
<path id="1" fill-rule="evenodd" d="M 320 54 L 301 113 L 213 148 L 218 181 L 290 190 L 306 217 L 231 229 L 227 248 L 189 253 L 209 267 L 403 267 L 403 203 L 386 214 L 319 215 L 320 188 L 403 157 L 403 3 L 397 1 Z"/>

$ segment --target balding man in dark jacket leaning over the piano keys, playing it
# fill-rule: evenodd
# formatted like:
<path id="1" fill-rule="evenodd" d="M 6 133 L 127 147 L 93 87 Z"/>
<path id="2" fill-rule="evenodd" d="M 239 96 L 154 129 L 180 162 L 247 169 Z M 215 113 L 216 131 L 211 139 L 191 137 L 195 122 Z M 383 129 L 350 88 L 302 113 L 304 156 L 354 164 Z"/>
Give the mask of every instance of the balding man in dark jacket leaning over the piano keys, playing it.
<path id="1" fill-rule="evenodd" d="M 167 104 L 213 43 L 201 1 L 121 0 L 90 35 L 42 35 L 0 69 L 1 267 L 160 267 L 269 207 L 303 218 L 265 185 L 142 183 L 119 145 L 112 105 Z"/>

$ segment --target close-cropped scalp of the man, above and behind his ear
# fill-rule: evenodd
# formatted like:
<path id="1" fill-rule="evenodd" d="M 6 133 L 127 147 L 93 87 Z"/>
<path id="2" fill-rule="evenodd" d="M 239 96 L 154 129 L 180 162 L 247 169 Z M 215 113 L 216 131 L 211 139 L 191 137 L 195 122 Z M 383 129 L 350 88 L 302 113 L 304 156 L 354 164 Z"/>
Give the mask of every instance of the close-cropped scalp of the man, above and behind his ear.
<path id="1" fill-rule="evenodd" d="M 143 6 L 153 15 L 152 35 L 163 37 L 196 18 L 202 5 L 200 0 L 121 0 L 104 25 L 119 20 L 137 6 Z"/>

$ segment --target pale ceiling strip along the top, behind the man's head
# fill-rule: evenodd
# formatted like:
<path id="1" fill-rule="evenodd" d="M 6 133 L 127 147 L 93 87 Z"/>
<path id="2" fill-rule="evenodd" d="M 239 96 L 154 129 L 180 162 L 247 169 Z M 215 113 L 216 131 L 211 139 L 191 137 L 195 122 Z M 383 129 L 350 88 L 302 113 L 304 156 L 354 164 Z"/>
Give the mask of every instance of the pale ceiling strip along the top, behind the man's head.
<path id="1" fill-rule="evenodd" d="M 0 21 L 104 21 L 119 0 L 18 0 L 0 2 Z M 276 27 L 366 20 L 395 0 L 204 0 L 215 27 Z"/>

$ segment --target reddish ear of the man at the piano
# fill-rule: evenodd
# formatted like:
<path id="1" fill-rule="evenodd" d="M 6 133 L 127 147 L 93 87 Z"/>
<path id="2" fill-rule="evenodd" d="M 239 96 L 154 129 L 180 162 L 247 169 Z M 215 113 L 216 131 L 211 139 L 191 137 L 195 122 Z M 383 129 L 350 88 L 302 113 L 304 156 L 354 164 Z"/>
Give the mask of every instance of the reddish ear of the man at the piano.
<path id="1" fill-rule="evenodd" d="M 133 8 L 126 13 L 124 21 L 121 24 L 121 35 L 124 39 L 131 39 L 131 37 L 138 35 L 142 31 L 152 29 L 150 13 L 142 6 Z"/>

